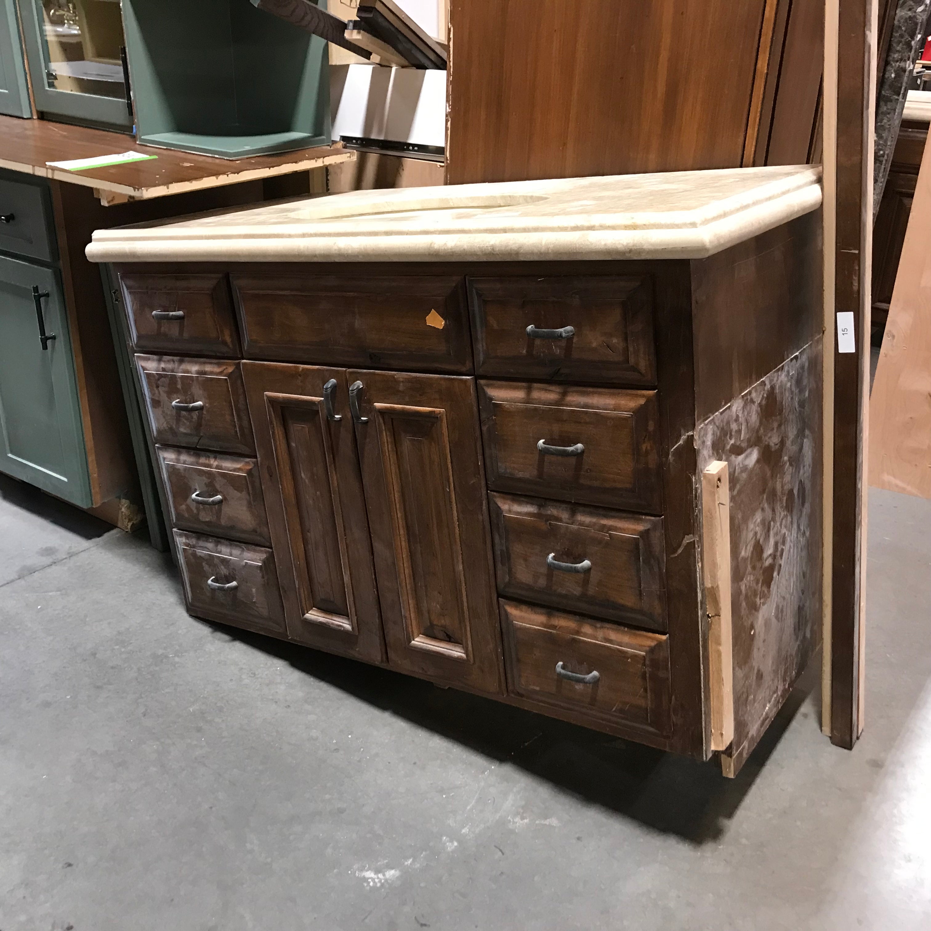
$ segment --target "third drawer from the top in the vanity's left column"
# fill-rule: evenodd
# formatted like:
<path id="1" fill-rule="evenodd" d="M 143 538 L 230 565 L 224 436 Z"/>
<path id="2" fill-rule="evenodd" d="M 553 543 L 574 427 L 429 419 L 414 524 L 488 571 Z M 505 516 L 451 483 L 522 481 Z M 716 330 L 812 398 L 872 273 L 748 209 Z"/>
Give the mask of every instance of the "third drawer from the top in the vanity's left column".
<path id="1" fill-rule="evenodd" d="M 271 546 L 257 460 L 169 446 L 156 452 L 173 526 Z"/>

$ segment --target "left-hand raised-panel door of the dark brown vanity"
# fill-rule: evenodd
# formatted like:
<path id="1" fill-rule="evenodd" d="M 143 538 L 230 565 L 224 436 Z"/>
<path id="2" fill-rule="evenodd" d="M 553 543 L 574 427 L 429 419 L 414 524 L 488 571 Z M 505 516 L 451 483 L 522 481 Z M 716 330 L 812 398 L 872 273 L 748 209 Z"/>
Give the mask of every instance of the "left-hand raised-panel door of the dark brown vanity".
<path id="1" fill-rule="evenodd" d="M 269 362 L 242 371 L 288 634 L 384 662 L 345 371 Z"/>

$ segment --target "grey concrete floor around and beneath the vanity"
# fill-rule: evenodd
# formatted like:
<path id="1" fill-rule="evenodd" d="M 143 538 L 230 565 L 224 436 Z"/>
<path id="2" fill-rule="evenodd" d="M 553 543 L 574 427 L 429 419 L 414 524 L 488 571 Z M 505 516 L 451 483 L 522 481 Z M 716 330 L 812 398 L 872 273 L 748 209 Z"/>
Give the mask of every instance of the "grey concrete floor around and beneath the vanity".
<path id="1" fill-rule="evenodd" d="M 870 495 L 867 730 L 743 773 L 184 614 L 0 478 L 0 931 L 931 927 L 931 503 Z"/>

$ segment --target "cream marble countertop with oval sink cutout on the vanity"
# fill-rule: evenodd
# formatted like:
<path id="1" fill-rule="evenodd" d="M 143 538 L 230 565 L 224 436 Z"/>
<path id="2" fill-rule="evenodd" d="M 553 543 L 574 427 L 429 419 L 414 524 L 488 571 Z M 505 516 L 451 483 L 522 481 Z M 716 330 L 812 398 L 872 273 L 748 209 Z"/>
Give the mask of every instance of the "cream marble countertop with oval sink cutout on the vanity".
<path id="1" fill-rule="evenodd" d="M 700 259 L 821 204 L 821 169 L 353 191 L 98 230 L 92 262 Z"/>

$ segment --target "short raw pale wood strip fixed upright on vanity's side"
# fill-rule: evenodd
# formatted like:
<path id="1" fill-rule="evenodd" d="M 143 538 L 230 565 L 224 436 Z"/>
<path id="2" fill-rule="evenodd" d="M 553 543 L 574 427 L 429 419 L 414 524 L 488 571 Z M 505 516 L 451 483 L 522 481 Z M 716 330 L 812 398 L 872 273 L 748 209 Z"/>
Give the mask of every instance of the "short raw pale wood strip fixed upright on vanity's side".
<path id="1" fill-rule="evenodd" d="M 713 462 L 702 473 L 702 567 L 708 610 L 712 750 L 727 749 L 734 741 L 730 521 L 727 463 Z"/>

